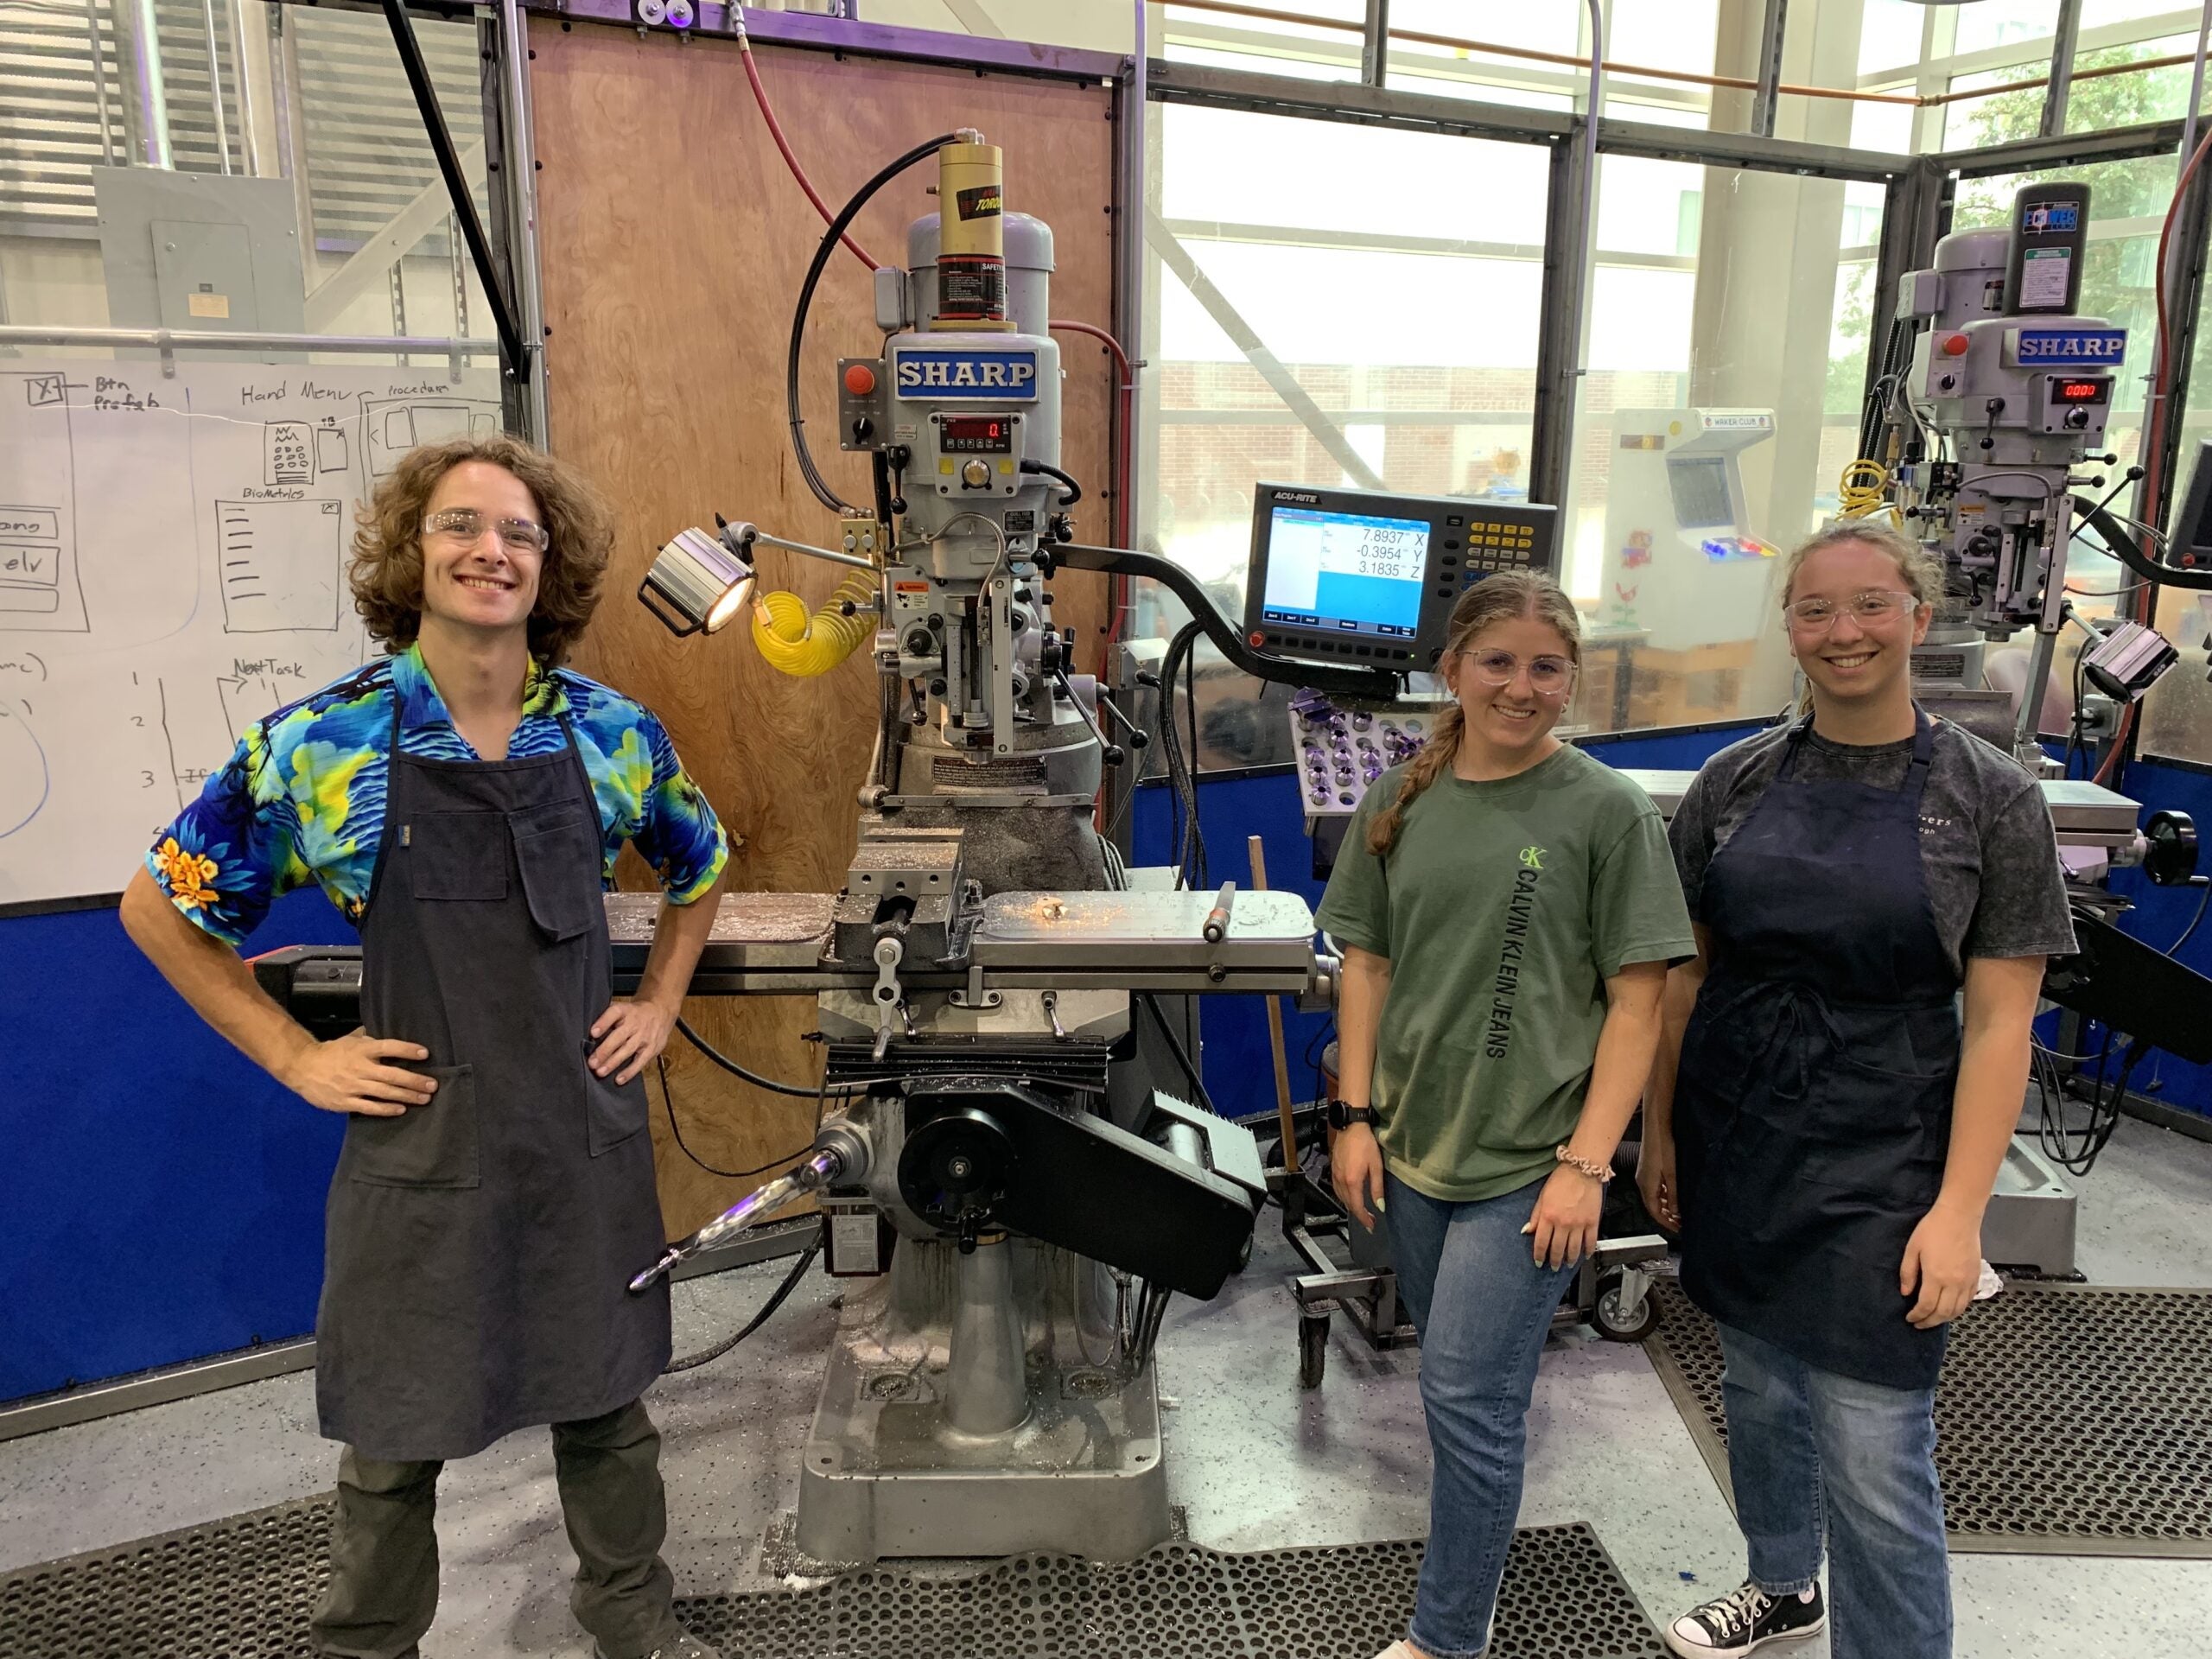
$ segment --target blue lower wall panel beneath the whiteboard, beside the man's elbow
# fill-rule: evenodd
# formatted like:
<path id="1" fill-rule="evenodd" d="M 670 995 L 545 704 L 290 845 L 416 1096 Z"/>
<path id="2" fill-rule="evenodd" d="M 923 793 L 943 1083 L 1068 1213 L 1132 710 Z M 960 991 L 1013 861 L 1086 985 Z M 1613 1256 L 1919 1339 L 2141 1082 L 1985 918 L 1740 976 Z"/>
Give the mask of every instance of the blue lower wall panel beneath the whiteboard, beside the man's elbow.
<path id="1" fill-rule="evenodd" d="M 248 951 L 352 942 L 319 891 Z M 113 909 L 0 920 L 0 1400 L 314 1327 L 343 1124 L 204 1026 Z"/>

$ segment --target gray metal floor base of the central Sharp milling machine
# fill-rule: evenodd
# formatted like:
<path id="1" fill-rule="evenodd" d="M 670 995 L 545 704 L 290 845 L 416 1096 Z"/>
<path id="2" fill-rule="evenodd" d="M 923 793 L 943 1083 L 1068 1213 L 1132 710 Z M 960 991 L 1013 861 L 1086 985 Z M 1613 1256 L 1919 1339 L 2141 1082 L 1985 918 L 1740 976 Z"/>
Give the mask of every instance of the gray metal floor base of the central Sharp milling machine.
<path id="1" fill-rule="evenodd" d="M 891 1274 L 847 1298 L 799 1464 L 799 1551 L 816 1562 L 1024 1551 L 1128 1562 L 1166 1542 L 1152 1367 L 1124 1376 L 1110 1329 L 1091 1336 L 1106 1358 L 1093 1365 L 1057 1352 L 1071 1323 L 1053 1318 L 1042 1334 L 1024 1318 L 1026 1418 L 1006 1433 L 962 1433 L 947 1416 L 949 1332 L 902 1318 L 909 1287 L 894 1285 L 902 1261 L 927 1254 L 949 1252 L 902 1239 Z M 1079 1259 L 1060 1261 L 1046 1279 L 1064 1287 Z M 1033 1294 L 1020 1296 L 1026 1310 Z"/>

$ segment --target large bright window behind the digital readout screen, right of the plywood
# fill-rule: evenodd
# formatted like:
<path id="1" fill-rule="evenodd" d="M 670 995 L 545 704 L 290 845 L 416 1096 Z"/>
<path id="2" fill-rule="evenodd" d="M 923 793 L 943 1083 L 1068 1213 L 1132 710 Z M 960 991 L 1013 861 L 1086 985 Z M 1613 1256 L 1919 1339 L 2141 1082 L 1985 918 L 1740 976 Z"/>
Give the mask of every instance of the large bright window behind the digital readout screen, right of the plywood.
<path id="1" fill-rule="evenodd" d="M 1542 146 L 1164 106 L 1150 538 L 1243 613 L 1252 487 L 1526 500 Z M 1175 604 L 1135 617 L 1166 633 Z M 1281 690 L 1199 655 L 1201 759 L 1283 757 Z M 1270 701 L 1272 699 L 1272 701 Z"/>

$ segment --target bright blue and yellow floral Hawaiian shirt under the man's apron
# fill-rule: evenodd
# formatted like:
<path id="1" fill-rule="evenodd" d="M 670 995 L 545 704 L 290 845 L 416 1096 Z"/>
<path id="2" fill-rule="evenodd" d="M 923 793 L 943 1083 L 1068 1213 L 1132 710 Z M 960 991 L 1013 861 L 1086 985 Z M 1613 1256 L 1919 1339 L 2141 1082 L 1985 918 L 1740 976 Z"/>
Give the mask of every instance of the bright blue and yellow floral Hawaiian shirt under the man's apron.
<path id="1" fill-rule="evenodd" d="M 155 838 L 146 869 L 170 902 L 215 938 L 239 945 L 279 894 L 312 880 L 358 925 L 385 823 L 394 697 L 407 754 L 480 759 L 453 728 L 418 648 L 369 664 L 257 721 L 199 799 Z M 675 902 L 699 898 L 730 847 L 668 732 L 628 697 L 533 661 L 509 757 L 562 750 L 562 714 L 575 726 L 599 803 L 602 880 L 613 887 L 615 854 L 628 841 Z"/>

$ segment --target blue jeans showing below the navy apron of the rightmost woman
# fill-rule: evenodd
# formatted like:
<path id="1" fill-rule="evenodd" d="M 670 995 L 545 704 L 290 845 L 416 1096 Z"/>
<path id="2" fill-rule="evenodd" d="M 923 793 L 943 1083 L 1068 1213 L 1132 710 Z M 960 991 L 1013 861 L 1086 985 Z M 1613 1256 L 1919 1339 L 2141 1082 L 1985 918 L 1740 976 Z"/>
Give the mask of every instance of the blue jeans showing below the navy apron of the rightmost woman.
<path id="1" fill-rule="evenodd" d="M 1834 1659 L 1949 1659 L 1936 1389 L 1820 1371 L 1732 1325 L 1721 1325 L 1721 1356 L 1752 1582 L 1767 1595 L 1807 1588 L 1825 1531 Z"/>

